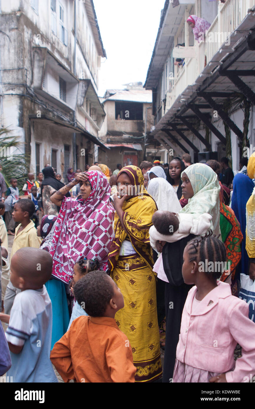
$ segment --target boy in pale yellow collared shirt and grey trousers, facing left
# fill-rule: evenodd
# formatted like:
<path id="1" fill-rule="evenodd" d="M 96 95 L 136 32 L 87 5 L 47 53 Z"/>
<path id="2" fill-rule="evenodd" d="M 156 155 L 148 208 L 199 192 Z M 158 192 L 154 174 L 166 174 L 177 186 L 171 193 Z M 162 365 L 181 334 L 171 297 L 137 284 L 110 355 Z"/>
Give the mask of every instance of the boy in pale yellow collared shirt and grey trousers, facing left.
<path id="1" fill-rule="evenodd" d="M 30 217 L 32 217 L 32 215 L 34 214 L 34 211 L 34 202 L 30 199 L 20 199 L 14 205 L 12 218 L 14 222 L 20 222 L 20 224 L 15 229 L 15 236 L 10 255 L 10 263 L 12 256 L 14 255 L 14 253 L 16 253 L 17 250 L 23 247 L 40 247 L 41 239 L 37 236 L 34 222 L 30 220 Z M 15 288 L 9 281 L 4 298 L 4 308 L 6 314 L 10 313 L 14 298 L 18 292 L 20 292 L 20 290 Z"/>

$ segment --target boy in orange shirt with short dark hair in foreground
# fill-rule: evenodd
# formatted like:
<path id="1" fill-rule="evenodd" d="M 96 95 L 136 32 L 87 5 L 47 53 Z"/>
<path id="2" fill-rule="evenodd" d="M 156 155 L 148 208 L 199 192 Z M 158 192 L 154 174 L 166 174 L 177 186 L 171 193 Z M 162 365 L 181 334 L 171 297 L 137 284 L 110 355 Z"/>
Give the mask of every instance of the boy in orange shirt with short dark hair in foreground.
<path id="1" fill-rule="evenodd" d="M 135 382 L 132 348 L 114 319 L 124 307 L 115 282 L 92 271 L 74 285 L 74 297 L 87 312 L 56 342 L 50 359 L 65 382 Z"/>

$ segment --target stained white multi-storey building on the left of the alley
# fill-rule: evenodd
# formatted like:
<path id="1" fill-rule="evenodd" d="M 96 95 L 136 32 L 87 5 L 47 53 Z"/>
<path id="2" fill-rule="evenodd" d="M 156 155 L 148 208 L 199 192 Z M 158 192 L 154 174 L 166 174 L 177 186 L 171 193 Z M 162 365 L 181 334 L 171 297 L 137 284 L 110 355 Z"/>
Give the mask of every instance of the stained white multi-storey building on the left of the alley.
<path id="1" fill-rule="evenodd" d="M 106 57 L 92 0 L 0 1 L 1 125 L 31 155 L 30 170 L 97 160 L 105 112 L 97 97 Z"/>

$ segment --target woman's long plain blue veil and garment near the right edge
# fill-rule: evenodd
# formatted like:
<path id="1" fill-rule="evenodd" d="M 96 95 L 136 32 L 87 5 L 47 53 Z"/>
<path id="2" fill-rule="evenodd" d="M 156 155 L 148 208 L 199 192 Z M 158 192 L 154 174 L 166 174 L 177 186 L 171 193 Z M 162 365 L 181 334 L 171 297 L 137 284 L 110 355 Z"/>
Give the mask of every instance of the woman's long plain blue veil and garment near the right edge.
<path id="1" fill-rule="evenodd" d="M 248 274 L 249 258 L 245 249 L 246 243 L 246 203 L 253 193 L 254 183 L 247 175 L 237 173 L 233 179 L 233 194 L 231 208 L 240 223 L 244 240 L 241 245 L 241 263 L 237 270 L 237 279 L 240 281 L 240 273 Z"/>

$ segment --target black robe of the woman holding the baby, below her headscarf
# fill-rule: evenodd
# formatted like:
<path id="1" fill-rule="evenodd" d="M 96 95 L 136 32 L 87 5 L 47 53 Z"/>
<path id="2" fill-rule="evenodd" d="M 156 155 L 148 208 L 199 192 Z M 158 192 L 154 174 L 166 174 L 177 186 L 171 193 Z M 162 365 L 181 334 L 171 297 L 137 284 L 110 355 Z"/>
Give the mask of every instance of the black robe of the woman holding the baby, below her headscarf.
<path id="1" fill-rule="evenodd" d="M 187 294 L 192 285 L 183 281 L 181 273 L 183 252 L 193 234 L 174 243 L 166 243 L 162 251 L 164 271 L 169 283 L 165 284 L 166 341 L 163 369 L 163 382 L 172 382 L 176 347 L 179 341 L 181 316 Z"/>

